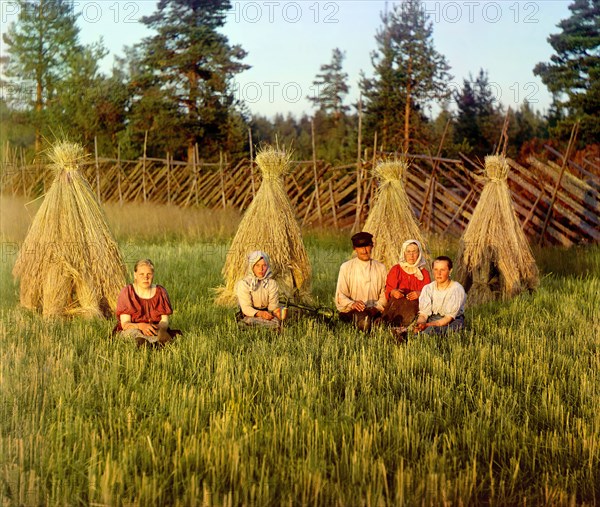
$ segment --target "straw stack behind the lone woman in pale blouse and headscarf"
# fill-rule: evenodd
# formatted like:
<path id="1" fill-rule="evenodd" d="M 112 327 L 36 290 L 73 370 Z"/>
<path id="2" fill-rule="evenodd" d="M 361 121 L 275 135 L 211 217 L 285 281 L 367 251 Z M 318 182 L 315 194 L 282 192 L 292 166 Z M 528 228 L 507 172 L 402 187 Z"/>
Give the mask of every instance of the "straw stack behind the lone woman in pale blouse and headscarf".
<path id="1" fill-rule="evenodd" d="M 235 284 L 247 275 L 247 256 L 254 250 L 269 254 L 281 296 L 293 297 L 296 302 L 309 302 L 310 262 L 283 185 L 289 161 L 289 153 L 271 146 L 262 148 L 256 155 L 262 184 L 246 210 L 227 253 L 222 270 L 225 287 L 217 288 L 217 304 L 233 306 L 237 303 Z"/>

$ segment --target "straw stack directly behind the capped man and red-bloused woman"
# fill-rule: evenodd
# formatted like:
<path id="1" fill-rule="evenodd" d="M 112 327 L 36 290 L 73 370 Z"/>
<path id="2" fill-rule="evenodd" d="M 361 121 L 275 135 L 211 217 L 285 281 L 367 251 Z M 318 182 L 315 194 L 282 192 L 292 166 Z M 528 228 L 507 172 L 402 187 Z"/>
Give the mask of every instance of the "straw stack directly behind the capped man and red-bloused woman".
<path id="1" fill-rule="evenodd" d="M 427 248 L 419 225 L 413 215 L 403 177 L 408 169 L 404 160 L 382 161 L 375 167 L 379 188 L 363 230 L 374 236 L 373 258 L 383 262 L 389 270 L 400 261 L 402 243 L 416 239 Z"/>

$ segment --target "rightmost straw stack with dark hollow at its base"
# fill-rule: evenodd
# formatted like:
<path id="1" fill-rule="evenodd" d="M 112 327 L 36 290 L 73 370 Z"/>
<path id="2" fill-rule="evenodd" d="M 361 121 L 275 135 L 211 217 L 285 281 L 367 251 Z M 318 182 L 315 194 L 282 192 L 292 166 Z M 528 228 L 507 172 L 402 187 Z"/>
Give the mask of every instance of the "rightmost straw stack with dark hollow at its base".
<path id="1" fill-rule="evenodd" d="M 463 232 L 456 279 L 471 304 L 510 298 L 539 284 L 538 268 L 515 215 L 507 184 L 508 163 L 485 157 L 486 184 Z"/>

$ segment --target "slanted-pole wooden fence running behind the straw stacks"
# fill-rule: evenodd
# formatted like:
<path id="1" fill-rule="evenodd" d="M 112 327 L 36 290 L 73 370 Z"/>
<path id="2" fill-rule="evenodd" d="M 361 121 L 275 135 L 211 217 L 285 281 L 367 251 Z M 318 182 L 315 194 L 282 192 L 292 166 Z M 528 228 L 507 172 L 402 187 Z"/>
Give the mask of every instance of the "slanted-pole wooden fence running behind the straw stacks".
<path id="1" fill-rule="evenodd" d="M 530 157 L 526 165 L 509 160 L 509 187 L 515 212 L 532 242 L 570 246 L 598 242 L 598 160 L 584 166 L 564 161 L 547 147 L 548 159 Z M 415 216 L 426 231 L 459 236 L 468 224 L 483 183 L 482 167 L 466 157 L 447 159 L 410 155 L 405 188 Z M 52 182 L 42 165 L 5 160 L 0 190 L 34 199 Z M 331 166 L 295 161 L 285 185 L 303 226 L 359 229 L 377 190 L 373 160 Z M 244 210 L 260 185 L 260 171 L 244 159 L 235 164 L 187 163 L 167 159 L 96 158 L 83 171 L 102 202 L 154 202 Z"/>

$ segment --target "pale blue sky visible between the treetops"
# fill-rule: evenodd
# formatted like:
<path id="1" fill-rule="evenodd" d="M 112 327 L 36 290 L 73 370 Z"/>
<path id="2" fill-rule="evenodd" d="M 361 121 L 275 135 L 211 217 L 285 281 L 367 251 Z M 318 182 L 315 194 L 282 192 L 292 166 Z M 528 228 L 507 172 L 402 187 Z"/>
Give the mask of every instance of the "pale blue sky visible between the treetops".
<path id="1" fill-rule="evenodd" d="M 388 9 L 394 3 L 388 2 Z M 533 75 L 537 62 L 553 54 L 546 39 L 559 32 L 568 18 L 568 0 L 439 0 L 425 2 L 433 22 L 436 49 L 446 56 L 452 87 L 460 88 L 469 73 L 488 71 L 494 95 L 505 106 L 518 107 L 528 98 L 545 111 L 550 103 L 546 87 Z M 112 53 L 150 34 L 137 23 L 152 13 L 155 0 L 74 0 L 81 11 L 84 42 L 100 36 Z M 331 60 L 335 47 L 345 51 L 349 75 L 348 102 L 358 98 L 360 71 L 372 75 L 371 52 L 381 26 L 381 0 L 243 0 L 232 1 L 224 29 L 231 43 L 241 44 L 252 68 L 236 78 L 241 98 L 253 113 L 272 116 L 312 112 L 306 95 L 319 67 Z M 16 4 L 0 0 L 2 26 L 16 19 Z M 110 68 L 112 56 L 103 62 Z M 433 105 L 433 111 L 437 107 Z"/>

